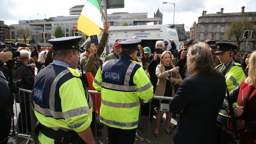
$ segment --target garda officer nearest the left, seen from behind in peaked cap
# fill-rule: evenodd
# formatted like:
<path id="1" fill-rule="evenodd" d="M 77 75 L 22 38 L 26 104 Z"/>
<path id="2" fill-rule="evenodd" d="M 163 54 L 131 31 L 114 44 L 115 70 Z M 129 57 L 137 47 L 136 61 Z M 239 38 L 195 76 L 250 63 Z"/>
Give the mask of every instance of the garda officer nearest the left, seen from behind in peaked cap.
<path id="1" fill-rule="evenodd" d="M 41 124 L 39 141 L 43 144 L 78 143 L 81 138 L 88 144 L 95 143 L 88 91 L 75 69 L 82 51 L 81 38 L 48 40 L 53 45 L 53 62 L 36 76 L 32 91 L 34 112 Z"/>

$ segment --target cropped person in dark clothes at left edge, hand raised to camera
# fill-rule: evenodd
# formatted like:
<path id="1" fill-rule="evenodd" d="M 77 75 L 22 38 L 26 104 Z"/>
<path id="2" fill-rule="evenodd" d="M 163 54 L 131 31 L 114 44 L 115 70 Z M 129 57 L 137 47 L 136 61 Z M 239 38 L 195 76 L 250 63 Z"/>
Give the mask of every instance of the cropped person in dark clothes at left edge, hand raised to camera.
<path id="1" fill-rule="evenodd" d="M 0 45 L 0 141 L 9 136 L 11 130 L 12 122 L 12 104 L 10 100 L 10 87 L 7 78 L 4 76 L 2 71 L 2 66 L 4 62 L 12 60 L 12 52 L 3 52 L 4 48 Z M 8 140 L 2 142 L 2 144 L 7 144 Z"/>

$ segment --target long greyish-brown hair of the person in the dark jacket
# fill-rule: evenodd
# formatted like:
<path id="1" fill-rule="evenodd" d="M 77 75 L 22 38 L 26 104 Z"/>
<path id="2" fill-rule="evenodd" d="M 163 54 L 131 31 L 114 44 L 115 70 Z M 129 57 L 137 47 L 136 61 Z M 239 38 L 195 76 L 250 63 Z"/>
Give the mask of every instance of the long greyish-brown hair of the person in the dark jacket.
<path id="1" fill-rule="evenodd" d="M 212 52 L 208 44 L 198 43 L 189 47 L 187 67 L 190 76 L 217 73 L 212 64 Z"/>

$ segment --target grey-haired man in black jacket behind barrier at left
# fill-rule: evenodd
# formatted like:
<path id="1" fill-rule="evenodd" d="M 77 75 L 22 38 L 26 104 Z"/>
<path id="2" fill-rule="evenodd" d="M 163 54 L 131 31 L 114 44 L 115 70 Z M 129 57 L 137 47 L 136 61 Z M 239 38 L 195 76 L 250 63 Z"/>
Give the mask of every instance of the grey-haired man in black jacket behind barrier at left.
<path id="1" fill-rule="evenodd" d="M 35 83 L 35 74 L 33 69 L 28 65 L 28 61 L 30 59 L 30 52 L 26 50 L 21 50 L 20 56 L 18 58 L 19 58 L 19 61 L 15 63 L 15 66 L 13 69 L 13 79 L 15 81 L 20 79 L 22 80 L 23 83 L 18 86 L 19 88 L 32 90 L 33 85 Z M 20 103 L 20 114 L 18 117 L 19 133 L 25 134 L 27 125 L 28 125 L 28 132 L 31 132 L 31 122 L 30 122 L 30 113 L 29 113 L 29 94 L 24 92 L 15 93 L 15 101 L 17 103 Z M 22 125 L 23 125 L 23 129 L 22 129 Z"/>

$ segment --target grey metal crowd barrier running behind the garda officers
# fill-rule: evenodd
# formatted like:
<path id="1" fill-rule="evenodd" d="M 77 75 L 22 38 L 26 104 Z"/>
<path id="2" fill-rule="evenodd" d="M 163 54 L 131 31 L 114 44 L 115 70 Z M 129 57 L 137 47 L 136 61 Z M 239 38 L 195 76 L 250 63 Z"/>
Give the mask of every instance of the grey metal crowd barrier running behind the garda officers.
<path id="1" fill-rule="evenodd" d="M 21 92 L 23 92 L 23 94 L 25 95 L 26 93 L 28 93 L 28 95 L 30 95 L 30 93 L 31 93 L 31 91 L 29 91 L 29 90 L 25 90 L 25 89 L 19 89 L 19 92 L 18 92 L 18 94 L 19 94 L 19 98 L 20 98 L 20 93 Z M 95 103 L 93 103 L 93 108 L 95 108 L 95 112 L 96 112 L 96 109 L 97 109 L 97 99 L 96 99 L 96 97 L 97 97 L 97 94 L 100 94 L 100 92 L 98 92 L 98 91 L 91 91 L 91 90 L 89 90 L 89 93 L 93 93 L 93 94 L 95 94 L 95 100 L 96 100 L 96 102 Z M 161 106 L 161 100 L 172 100 L 173 98 L 172 97 L 162 97 L 162 96 L 154 96 L 154 99 L 156 99 L 156 100 L 160 100 L 159 101 L 159 108 L 160 108 L 160 106 Z M 35 114 L 34 114 L 34 111 L 33 111 L 33 109 L 32 109 L 32 107 L 31 107 L 31 103 L 29 104 L 29 110 L 26 108 L 26 103 L 28 102 L 29 103 L 29 101 L 26 101 L 25 100 L 25 97 L 24 97 L 24 104 L 25 104 L 25 111 L 20 111 L 20 113 L 21 113 L 21 119 L 22 119 L 22 116 L 24 116 L 24 113 L 25 113 L 25 118 L 26 118 L 26 128 L 24 128 L 23 127 L 23 121 L 21 121 L 21 127 L 22 127 L 22 130 L 21 130 L 21 132 L 23 132 L 24 131 L 24 129 L 25 129 L 25 131 L 26 131 L 26 133 L 25 134 L 18 134 L 17 136 L 18 137 L 21 137 L 21 138 L 24 138 L 24 139 L 27 139 L 27 142 L 26 142 L 26 144 L 28 144 L 28 142 L 29 141 L 34 141 L 35 143 L 38 143 L 37 142 L 37 140 L 38 140 L 38 138 L 37 138 L 37 136 L 35 135 L 35 132 L 34 132 L 34 130 L 35 130 L 35 125 L 36 125 L 36 116 L 35 116 Z M 17 121 L 17 127 L 16 127 L 16 129 L 15 129 L 15 131 L 16 132 L 18 132 L 18 133 L 20 133 L 19 132 L 19 129 L 18 129 L 18 110 L 17 110 L 17 104 L 16 104 L 16 102 L 15 102 L 15 116 L 16 116 L 16 121 Z M 27 113 L 29 113 L 29 116 L 30 116 L 30 122 L 31 122 L 31 132 L 29 132 L 29 130 L 28 130 L 28 117 L 27 117 Z M 22 115 L 23 114 L 23 115 Z M 141 114 L 141 106 L 140 106 L 140 114 Z M 151 114 L 151 102 L 149 102 L 149 118 L 148 118 L 148 138 L 145 138 L 145 141 L 137 141 L 137 143 L 152 143 L 152 139 L 156 139 L 155 137 L 150 137 L 150 114 Z M 170 112 L 169 112 L 169 118 L 171 118 L 171 116 L 170 116 Z M 137 131 L 138 132 L 138 135 L 139 135 L 139 138 L 140 138 L 140 136 L 141 136 L 141 133 L 140 133 L 140 127 L 141 127 L 141 123 L 140 123 L 140 121 L 141 121 L 141 116 L 139 116 L 139 120 L 138 120 L 139 122 L 139 131 Z M 160 135 L 160 132 L 159 132 L 159 128 L 160 128 L 160 116 L 159 116 L 159 119 L 158 119 L 158 121 L 159 121 L 159 123 L 158 123 L 158 137 L 157 137 L 157 143 L 158 143 L 158 138 L 159 138 L 159 135 Z M 167 121 L 167 120 L 166 120 Z M 168 120 L 168 122 L 170 122 L 170 119 Z M 95 118 L 95 124 L 97 124 L 97 117 Z M 95 126 L 95 132 L 96 132 L 96 129 L 97 129 L 97 126 Z M 170 129 L 170 123 L 169 123 L 169 129 Z M 12 130 L 11 130 L 11 132 L 12 132 Z M 151 133 L 151 135 L 152 135 L 153 133 Z M 167 135 L 168 136 L 168 135 Z M 171 135 L 170 135 L 171 136 Z M 150 140 L 150 138 L 151 138 L 151 140 Z M 173 137 L 171 138 L 171 139 L 173 139 Z M 100 137 L 97 137 L 97 134 L 95 135 L 95 142 L 96 142 L 96 144 L 97 143 L 108 143 L 108 129 L 107 129 L 107 126 L 106 125 L 104 125 L 104 127 L 103 127 L 103 134 L 101 134 L 101 136 Z M 154 142 L 155 143 L 155 142 Z"/>

